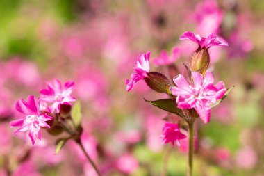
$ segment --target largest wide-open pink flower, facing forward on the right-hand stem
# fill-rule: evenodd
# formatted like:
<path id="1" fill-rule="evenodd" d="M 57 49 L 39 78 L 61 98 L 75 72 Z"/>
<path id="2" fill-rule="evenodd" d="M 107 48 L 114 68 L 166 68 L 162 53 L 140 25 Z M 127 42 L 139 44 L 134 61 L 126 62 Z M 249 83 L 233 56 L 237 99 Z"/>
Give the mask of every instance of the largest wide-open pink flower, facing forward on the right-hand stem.
<path id="1" fill-rule="evenodd" d="M 205 123 L 210 121 L 211 103 L 217 102 L 226 93 L 224 82 L 220 81 L 213 85 L 214 77 L 211 72 L 203 75 L 192 72 L 193 83 L 190 84 L 183 75 L 174 77 L 176 87 L 170 87 L 173 95 L 176 95 L 176 103 L 180 109 L 194 108 L 201 120 Z"/>

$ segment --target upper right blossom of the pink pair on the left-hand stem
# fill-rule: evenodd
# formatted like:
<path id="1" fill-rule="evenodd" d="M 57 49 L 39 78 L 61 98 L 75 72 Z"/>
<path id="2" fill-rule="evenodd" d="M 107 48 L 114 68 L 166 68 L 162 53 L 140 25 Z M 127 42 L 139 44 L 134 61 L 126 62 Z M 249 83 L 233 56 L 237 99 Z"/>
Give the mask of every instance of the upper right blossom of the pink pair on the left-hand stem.
<path id="1" fill-rule="evenodd" d="M 60 81 L 55 79 L 51 83 L 47 83 L 47 89 L 40 90 L 40 99 L 44 102 L 52 102 L 53 104 L 49 106 L 51 112 L 60 112 L 60 104 L 70 104 L 70 102 L 75 102 L 76 99 L 72 97 L 72 90 L 74 88 L 74 82 L 67 81 L 64 87 L 61 86 Z"/>

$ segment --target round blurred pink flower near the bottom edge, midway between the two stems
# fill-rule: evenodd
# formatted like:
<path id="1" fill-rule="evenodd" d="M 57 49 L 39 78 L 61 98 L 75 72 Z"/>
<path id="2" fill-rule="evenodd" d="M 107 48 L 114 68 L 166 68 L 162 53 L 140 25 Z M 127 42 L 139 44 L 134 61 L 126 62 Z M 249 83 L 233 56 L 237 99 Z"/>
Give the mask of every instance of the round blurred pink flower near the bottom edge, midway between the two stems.
<path id="1" fill-rule="evenodd" d="M 123 154 L 116 163 L 117 169 L 123 173 L 131 174 L 138 168 L 138 161 L 131 154 Z"/>

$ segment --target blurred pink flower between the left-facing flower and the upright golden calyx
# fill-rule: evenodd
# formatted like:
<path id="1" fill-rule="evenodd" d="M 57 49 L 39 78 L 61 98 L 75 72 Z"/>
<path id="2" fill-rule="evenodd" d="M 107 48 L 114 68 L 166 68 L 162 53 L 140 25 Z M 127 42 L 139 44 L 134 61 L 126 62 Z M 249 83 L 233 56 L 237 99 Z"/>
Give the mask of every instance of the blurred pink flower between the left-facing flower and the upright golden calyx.
<path id="1" fill-rule="evenodd" d="M 180 57 L 180 49 L 178 47 L 174 47 L 172 49 L 172 56 L 167 54 L 167 51 L 160 51 L 160 56 L 154 58 L 153 63 L 155 65 L 170 65 L 174 63 Z"/>

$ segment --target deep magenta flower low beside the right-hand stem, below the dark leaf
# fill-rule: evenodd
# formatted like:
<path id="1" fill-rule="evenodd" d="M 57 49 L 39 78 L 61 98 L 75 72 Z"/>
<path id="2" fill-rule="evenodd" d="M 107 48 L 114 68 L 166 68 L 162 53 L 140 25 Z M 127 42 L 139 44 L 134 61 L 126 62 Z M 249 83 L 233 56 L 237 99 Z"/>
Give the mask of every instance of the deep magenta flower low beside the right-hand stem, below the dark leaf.
<path id="1" fill-rule="evenodd" d="M 161 135 L 160 138 L 163 138 L 162 143 L 172 143 L 172 147 L 174 147 L 175 141 L 176 144 L 180 146 L 181 143 L 179 141 L 186 138 L 186 136 L 181 133 L 178 124 L 167 122 L 163 126 L 163 135 Z"/>

